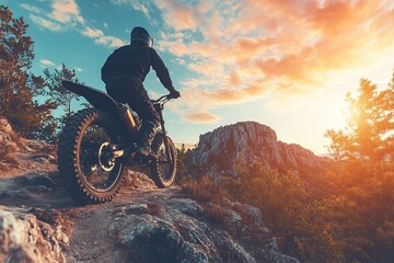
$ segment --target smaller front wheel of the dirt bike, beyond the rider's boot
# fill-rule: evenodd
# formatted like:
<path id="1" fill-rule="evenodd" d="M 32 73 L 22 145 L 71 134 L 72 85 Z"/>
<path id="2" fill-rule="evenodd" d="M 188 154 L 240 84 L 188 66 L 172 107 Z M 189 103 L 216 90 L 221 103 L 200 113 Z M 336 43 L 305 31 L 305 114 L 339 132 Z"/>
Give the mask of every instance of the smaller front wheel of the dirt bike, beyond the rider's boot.
<path id="1" fill-rule="evenodd" d="M 165 150 L 164 139 L 167 140 L 169 149 Z M 151 178 L 159 188 L 170 187 L 176 175 L 176 151 L 174 142 L 170 137 L 158 134 L 152 142 L 151 149 L 157 156 L 151 163 Z"/>

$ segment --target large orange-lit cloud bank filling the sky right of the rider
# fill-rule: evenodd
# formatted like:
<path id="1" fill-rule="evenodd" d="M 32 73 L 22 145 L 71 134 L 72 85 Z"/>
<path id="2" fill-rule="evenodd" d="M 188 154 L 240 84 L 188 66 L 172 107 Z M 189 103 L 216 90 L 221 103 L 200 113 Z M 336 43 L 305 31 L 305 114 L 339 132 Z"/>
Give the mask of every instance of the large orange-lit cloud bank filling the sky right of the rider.
<path id="1" fill-rule="evenodd" d="M 337 73 L 394 54 L 389 0 L 154 2 L 172 31 L 159 49 L 195 73 L 182 81 L 185 116 L 267 92 L 313 92 Z"/>

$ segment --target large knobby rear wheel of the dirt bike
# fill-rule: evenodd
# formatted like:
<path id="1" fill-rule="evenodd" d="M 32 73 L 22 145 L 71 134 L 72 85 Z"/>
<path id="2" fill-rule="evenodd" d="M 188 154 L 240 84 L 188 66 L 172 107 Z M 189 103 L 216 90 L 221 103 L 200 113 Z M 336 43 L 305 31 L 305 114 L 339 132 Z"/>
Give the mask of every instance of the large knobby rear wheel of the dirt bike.
<path id="1" fill-rule="evenodd" d="M 117 144 L 116 125 L 99 110 L 82 110 L 67 123 L 58 147 L 58 168 L 76 201 L 104 203 L 119 191 L 124 165 L 112 155 Z"/>

